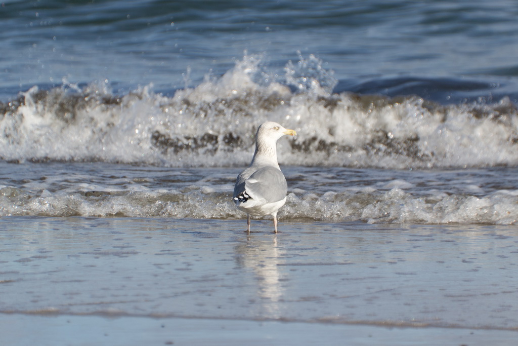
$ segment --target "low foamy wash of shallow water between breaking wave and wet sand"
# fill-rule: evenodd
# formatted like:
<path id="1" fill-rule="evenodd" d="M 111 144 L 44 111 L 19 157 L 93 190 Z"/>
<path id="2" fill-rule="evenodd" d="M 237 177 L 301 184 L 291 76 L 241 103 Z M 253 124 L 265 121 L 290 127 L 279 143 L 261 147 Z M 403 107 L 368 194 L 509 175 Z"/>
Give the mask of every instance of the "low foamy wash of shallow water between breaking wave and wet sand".
<path id="1" fill-rule="evenodd" d="M 141 179 L 144 173 L 138 167 L 110 166 L 110 173 L 104 174 L 101 166 L 98 174 L 94 174 L 88 164 L 76 163 L 77 168 L 63 164 L 67 170 L 84 171 L 88 167 L 92 175 L 87 177 L 74 172 L 62 174 L 62 169 L 54 169 L 56 165 L 37 165 L 41 172 L 34 173 L 32 181 L 24 179 L 19 186 L 2 184 L 0 215 L 244 217 L 231 196 L 240 169 L 183 171 L 156 168 L 147 170 L 148 178 Z M 20 170 L 18 165 L 4 163 L 4 166 L 6 172 Z M 290 182 L 289 194 L 279 218 L 333 222 L 362 220 L 368 223 L 516 224 L 518 190 L 493 188 L 495 183 L 501 183 L 500 176 L 512 172 L 512 169 L 480 170 L 466 173 L 471 176 L 466 179 L 462 171 L 289 168 L 285 173 Z M 39 176 L 46 178 L 39 180 Z M 389 177 L 392 179 L 387 179 Z M 7 181 L 5 178 L 3 183 Z M 114 181 L 118 182 L 116 186 Z M 40 184 L 33 184 L 36 182 Z"/>

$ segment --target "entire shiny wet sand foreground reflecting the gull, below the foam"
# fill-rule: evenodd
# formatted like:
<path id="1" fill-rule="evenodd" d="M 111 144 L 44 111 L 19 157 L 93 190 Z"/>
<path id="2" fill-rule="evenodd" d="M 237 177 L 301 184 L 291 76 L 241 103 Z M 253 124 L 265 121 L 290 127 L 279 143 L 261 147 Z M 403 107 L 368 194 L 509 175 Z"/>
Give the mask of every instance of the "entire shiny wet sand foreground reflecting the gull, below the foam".
<path id="1" fill-rule="evenodd" d="M 281 220 L 275 235 L 271 220 L 254 220 L 250 236 L 243 226 L 0 219 L 0 341 L 505 345 L 518 338 L 513 226 Z"/>

